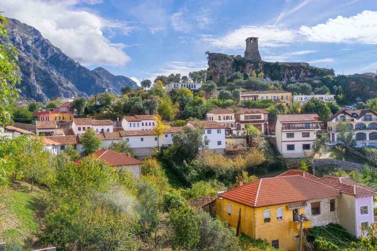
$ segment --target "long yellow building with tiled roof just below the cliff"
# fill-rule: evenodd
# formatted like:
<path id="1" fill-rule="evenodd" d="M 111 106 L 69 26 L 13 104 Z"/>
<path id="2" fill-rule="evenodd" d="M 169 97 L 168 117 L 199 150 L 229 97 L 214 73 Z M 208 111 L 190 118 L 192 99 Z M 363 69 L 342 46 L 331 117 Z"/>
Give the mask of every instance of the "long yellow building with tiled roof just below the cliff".
<path id="1" fill-rule="evenodd" d="M 292 93 L 283 90 L 274 91 L 245 91 L 239 95 L 241 101 L 247 100 L 264 100 L 272 99 L 275 103 L 282 103 L 285 105 L 290 105 L 292 103 Z"/>

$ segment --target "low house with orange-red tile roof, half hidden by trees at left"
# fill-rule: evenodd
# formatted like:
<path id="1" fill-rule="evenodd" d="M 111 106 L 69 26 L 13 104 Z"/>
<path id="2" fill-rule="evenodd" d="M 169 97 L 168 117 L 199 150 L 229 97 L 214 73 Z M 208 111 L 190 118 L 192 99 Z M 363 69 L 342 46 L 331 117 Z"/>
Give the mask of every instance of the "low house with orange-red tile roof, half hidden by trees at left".
<path id="1" fill-rule="evenodd" d="M 118 153 L 111 151 L 109 149 L 102 149 L 97 151 L 93 154 L 98 160 L 104 161 L 107 165 L 112 166 L 116 169 L 128 169 L 132 170 L 133 175 L 137 178 L 140 178 L 141 169 L 140 164 L 143 162 L 131 158 L 127 153 Z M 80 160 L 75 161 L 74 163 L 79 165 L 81 162 Z"/>

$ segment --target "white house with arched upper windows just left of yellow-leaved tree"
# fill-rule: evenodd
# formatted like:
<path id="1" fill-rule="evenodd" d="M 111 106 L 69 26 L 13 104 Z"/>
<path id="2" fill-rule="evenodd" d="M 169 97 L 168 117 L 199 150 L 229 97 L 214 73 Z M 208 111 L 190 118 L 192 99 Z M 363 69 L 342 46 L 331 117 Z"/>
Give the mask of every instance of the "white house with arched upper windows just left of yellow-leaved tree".
<path id="1" fill-rule="evenodd" d="M 154 117 L 154 115 L 125 116 L 120 123 L 124 131 L 152 130 L 157 126 Z"/>

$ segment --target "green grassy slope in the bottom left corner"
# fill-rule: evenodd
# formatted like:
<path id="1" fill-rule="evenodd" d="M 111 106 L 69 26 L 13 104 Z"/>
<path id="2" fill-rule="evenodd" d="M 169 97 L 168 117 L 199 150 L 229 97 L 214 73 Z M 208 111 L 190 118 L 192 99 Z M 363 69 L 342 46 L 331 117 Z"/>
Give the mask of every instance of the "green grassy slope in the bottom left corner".
<path id="1" fill-rule="evenodd" d="M 40 198 L 46 193 L 25 182 L 14 183 L 0 197 L 0 242 L 18 245 L 24 249 L 40 247 L 38 233 L 43 213 Z"/>

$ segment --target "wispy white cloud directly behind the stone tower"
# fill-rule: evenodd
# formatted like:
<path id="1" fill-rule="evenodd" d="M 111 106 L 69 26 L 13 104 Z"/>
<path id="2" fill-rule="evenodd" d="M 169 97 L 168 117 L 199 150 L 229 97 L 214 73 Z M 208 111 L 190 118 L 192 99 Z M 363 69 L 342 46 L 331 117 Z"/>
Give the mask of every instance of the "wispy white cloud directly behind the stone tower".
<path id="1" fill-rule="evenodd" d="M 241 26 L 223 37 L 203 37 L 202 41 L 225 49 L 244 49 L 245 39 L 259 37 L 259 48 L 286 46 L 296 41 L 296 31 L 282 25 Z"/>

